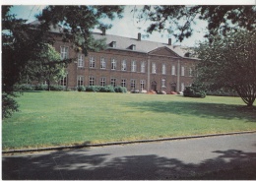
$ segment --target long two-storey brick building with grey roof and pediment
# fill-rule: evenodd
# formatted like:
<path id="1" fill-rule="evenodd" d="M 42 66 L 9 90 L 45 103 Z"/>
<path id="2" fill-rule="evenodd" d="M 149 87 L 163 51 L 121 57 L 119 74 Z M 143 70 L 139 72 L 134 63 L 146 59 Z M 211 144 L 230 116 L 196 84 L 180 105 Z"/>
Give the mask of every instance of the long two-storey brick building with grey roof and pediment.
<path id="1" fill-rule="evenodd" d="M 58 32 L 58 30 L 52 30 Z M 122 37 L 102 33 L 107 49 L 89 52 L 88 56 L 75 52 L 69 43 L 56 40 L 54 47 L 62 58 L 76 58 L 69 64 L 67 76 L 59 84 L 68 89 L 79 86 L 126 87 L 128 91 L 183 91 L 193 82 L 193 70 L 198 61 L 189 57 L 189 48 L 166 43 Z"/>

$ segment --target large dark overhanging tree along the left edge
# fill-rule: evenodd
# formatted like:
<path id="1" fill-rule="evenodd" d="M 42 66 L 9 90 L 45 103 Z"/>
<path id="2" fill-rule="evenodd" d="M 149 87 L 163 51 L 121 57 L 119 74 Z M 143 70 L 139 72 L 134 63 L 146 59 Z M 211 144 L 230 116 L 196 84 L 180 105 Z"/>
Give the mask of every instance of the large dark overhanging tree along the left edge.
<path id="1" fill-rule="evenodd" d="M 27 74 L 29 62 L 36 61 L 38 50 L 43 49 L 45 43 L 51 44 L 55 40 L 48 33 L 50 26 L 62 26 L 60 34 L 63 41 L 73 43 L 75 50 L 82 49 L 87 54 L 88 50 L 97 51 L 106 47 L 103 39 L 94 39 L 91 30 L 96 27 L 110 28 L 111 26 L 101 21 L 121 18 L 123 12 L 122 6 L 47 6 L 37 16 L 40 25 L 34 27 L 26 24 L 26 20 L 17 19 L 10 13 L 10 9 L 11 6 L 2 6 L 3 117 L 8 110 L 10 114 L 18 110 L 14 99 L 14 85 L 19 84 Z M 8 98 L 4 97 L 5 94 L 8 94 Z M 10 109 L 10 105 L 13 108 Z"/>

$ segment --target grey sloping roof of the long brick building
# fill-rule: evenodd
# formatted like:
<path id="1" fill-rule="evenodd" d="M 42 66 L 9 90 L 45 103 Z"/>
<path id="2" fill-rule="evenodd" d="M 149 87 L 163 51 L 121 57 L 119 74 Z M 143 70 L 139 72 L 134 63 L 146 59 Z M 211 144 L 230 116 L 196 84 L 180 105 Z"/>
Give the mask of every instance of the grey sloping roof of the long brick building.
<path id="1" fill-rule="evenodd" d="M 39 21 L 34 21 L 31 23 L 31 25 L 33 26 L 37 26 L 38 24 L 40 24 Z M 50 27 L 51 32 L 60 32 L 62 30 L 63 29 L 60 26 L 56 26 L 55 28 L 53 26 Z M 168 49 L 170 49 L 180 57 L 196 59 L 193 57 L 185 56 L 186 53 L 191 52 L 192 49 L 190 47 L 179 46 L 179 45 L 168 45 L 167 43 L 162 43 L 162 42 L 149 41 L 149 40 L 143 40 L 143 39 L 138 40 L 138 38 L 124 37 L 124 36 L 112 35 L 112 34 L 103 35 L 102 33 L 99 33 L 99 32 L 93 32 L 93 36 L 96 39 L 105 38 L 108 48 L 111 48 L 111 49 L 149 53 L 157 48 L 167 47 Z M 167 40 L 168 39 L 166 39 L 166 41 Z M 115 46 L 111 45 L 113 41 L 115 41 Z M 132 50 L 131 48 L 132 45 L 136 46 L 134 50 Z"/>

